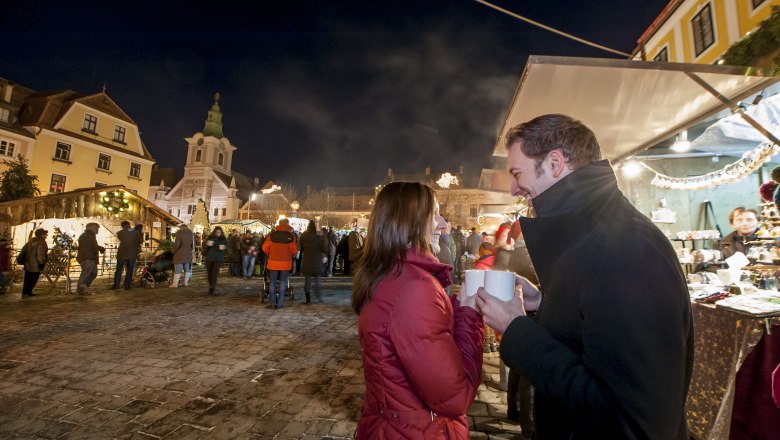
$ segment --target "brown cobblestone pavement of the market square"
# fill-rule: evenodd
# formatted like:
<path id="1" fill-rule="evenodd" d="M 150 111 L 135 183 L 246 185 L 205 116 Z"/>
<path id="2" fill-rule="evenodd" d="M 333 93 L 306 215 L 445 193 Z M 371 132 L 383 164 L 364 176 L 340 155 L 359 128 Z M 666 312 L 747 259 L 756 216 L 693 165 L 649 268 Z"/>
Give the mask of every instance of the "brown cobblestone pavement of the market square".
<path id="1" fill-rule="evenodd" d="M 349 278 L 280 310 L 259 279 L 90 296 L 0 295 L 0 438 L 352 438 L 364 393 Z M 520 438 L 507 423 L 495 353 L 469 414 L 472 438 Z"/>

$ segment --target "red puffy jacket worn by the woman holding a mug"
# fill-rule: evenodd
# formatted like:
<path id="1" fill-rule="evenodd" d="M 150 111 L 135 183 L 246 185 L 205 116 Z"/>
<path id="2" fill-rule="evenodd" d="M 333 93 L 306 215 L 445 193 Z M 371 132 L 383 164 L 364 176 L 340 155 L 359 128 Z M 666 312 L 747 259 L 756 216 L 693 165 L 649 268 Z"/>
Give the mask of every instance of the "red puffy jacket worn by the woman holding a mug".
<path id="1" fill-rule="evenodd" d="M 444 291 L 452 266 L 409 250 L 400 274 L 363 305 L 358 334 L 366 397 L 358 439 L 469 438 L 482 382 L 482 316 Z"/>

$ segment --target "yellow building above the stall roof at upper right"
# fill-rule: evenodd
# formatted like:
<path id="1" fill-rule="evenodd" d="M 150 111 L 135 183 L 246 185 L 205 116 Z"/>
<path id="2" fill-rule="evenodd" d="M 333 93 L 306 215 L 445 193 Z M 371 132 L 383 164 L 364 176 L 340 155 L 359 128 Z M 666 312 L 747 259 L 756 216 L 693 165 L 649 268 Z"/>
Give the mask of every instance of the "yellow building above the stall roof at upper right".
<path id="1" fill-rule="evenodd" d="M 780 0 L 672 0 L 639 37 L 634 58 L 714 64 Z"/>

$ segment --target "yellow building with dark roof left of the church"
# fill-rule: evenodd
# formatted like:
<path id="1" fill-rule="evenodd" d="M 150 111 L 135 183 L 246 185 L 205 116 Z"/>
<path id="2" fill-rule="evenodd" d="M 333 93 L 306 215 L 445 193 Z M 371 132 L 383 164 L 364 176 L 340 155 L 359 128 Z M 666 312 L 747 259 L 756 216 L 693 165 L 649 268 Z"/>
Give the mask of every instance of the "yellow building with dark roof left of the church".
<path id="1" fill-rule="evenodd" d="M 6 152 L 13 143 L 7 158 L 27 159 L 41 195 L 124 185 L 146 197 L 154 159 L 138 125 L 105 89 L 81 96 L 72 90 L 35 93 L 7 80 L 0 85 L 11 109 L 9 124 L 0 124 L 0 141 Z"/>

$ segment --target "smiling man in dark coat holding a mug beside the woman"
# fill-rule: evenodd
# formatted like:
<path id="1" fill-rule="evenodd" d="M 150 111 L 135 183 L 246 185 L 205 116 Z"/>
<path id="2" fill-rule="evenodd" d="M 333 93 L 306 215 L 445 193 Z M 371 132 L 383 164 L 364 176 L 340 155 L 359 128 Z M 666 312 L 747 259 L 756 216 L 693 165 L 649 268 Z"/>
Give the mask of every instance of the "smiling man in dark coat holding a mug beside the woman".
<path id="1" fill-rule="evenodd" d="M 579 121 L 540 116 L 506 145 L 512 194 L 536 211 L 521 225 L 544 296 L 536 320 L 522 296 L 479 289 L 477 304 L 504 334 L 504 362 L 534 386 L 538 438 L 688 440 L 693 325 L 671 244 Z"/>

